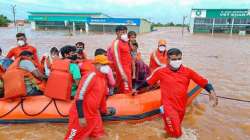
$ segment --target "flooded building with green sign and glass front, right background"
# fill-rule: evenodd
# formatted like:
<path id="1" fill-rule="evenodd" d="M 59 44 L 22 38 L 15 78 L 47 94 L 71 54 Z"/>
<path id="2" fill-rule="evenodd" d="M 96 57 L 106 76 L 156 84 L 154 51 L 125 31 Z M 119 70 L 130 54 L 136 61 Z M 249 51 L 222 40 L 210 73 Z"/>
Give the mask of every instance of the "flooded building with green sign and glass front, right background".
<path id="1" fill-rule="evenodd" d="M 250 33 L 250 9 L 192 9 L 191 33 Z"/>

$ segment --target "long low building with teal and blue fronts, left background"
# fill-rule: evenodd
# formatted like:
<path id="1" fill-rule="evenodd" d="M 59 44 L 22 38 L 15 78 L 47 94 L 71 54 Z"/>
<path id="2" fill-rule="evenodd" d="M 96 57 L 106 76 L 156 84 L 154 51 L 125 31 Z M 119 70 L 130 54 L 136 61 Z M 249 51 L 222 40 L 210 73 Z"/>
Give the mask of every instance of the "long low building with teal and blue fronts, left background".
<path id="1" fill-rule="evenodd" d="M 34 30 L 69 29 L 85 32 L 114 32 L 117 25 L 125 25 L 137 33 L 151 32 L 151 22 L 139 18 L 112 18 L 95 12 L 29 12 Z"/>

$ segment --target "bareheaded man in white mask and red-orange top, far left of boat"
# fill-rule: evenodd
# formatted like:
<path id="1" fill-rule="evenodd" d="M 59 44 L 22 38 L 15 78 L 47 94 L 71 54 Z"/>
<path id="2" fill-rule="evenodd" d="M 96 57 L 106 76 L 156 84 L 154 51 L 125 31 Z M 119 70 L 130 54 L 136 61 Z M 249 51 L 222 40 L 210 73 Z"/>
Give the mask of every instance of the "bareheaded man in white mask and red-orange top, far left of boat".
<path id="1" fill-rule="evenodd" d="M 34 61 L 39 64 L 38 55 L 36 48 L 30 46 L 27 43 L 27 38 L 24 33 L 17 33 L 16 34 L 17 39 L 17 47 L 12 48 L 9 53 L 7 54 L 7 58 L 14 57 L 15 59 L 21 54 L 23 51 L 29 51 L 34 55 Z"/>

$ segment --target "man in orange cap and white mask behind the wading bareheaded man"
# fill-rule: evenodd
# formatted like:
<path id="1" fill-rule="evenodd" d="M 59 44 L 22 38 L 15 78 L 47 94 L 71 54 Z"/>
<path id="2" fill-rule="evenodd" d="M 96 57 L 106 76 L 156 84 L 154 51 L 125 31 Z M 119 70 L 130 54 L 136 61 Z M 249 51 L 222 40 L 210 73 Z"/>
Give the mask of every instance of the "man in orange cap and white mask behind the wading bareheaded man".
<path id="1" fill-rule="evenodd" d="M 167 64 L 167 42 L 164 39 L 159 40 L 158 48 L 150 56 L 149 68 L 152 72 L 154 69 Z"/>

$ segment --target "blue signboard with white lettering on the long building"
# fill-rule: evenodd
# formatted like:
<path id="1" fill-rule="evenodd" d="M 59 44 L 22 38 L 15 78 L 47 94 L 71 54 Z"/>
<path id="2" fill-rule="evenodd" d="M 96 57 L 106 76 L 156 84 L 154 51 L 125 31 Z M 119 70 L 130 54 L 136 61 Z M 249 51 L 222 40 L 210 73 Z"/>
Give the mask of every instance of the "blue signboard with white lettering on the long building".
<path id="1" fill-rule="evenodd" d="M 90 18 L 90 24 L 102 25 L 140 25 L 140 19 L 133 18 Z"/>

